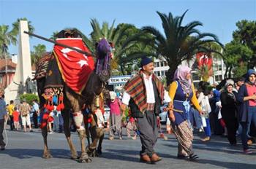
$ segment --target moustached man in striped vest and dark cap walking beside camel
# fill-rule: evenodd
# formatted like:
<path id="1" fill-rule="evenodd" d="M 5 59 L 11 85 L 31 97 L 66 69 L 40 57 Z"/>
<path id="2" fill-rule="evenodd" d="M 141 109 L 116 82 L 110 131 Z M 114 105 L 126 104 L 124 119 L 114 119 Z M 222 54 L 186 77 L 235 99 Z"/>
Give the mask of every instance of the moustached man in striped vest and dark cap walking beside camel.
<path id="1" fill-rule="evenodd" d="M 121 109 L 130 106 L 132 117 L 137 119 L 137 126 L 140 132 L 142 150 L 140 151 L 140 161 L 155 163 L 161 159 L 154 152 L 157 143 L 157 116 L 160 106 L 165 102 L 170 102 L 170 98 L 165 92 L 162 82 L 154 72 L 154 63 L 151 58 L 142 58 L 140 62 L 141 70 L 124 85 L 124 94 Z"/>

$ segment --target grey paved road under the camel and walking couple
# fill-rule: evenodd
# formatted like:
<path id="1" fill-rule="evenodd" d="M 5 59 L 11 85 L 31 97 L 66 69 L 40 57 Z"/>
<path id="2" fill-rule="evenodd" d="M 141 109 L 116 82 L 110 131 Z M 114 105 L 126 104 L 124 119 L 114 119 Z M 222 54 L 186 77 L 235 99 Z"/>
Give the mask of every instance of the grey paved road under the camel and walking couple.
<path id="1" fill-rule="evenodd" d="M 140 140 L 123 140 L 103 142 L 102 157 L 93 158 L 89 164 L 80 164 L 69 158 L 66 138 L 62 133 L 48 136 L 52 159 L 42 158 L 42 135 L 34 133 L 14 132 L 7 130 L 8 144 L 5 151 L 0 151 L 0 168 L 256 168 L 256 146 L 252 146 L 254 154 L 241 153 L 241 144 L 229 146 L 227 138 L 213 136 L 211 141 L 200 141 L 201 133 L 195 134 L 194 150 L 200 156 L 196 162 L 176 159 L 177 141 L 174 135 L 167 135 L 168 140 L 159 138 L 156 151 L 163 158 L 155 165 L 139 162 Z M 107 138 L 108 135 L 105 135 Z M 72 134 L 72 140 L 78 151 L 80 144 L 77 133 Z M 239 141 L 240 142 L 240 141 Z"/>

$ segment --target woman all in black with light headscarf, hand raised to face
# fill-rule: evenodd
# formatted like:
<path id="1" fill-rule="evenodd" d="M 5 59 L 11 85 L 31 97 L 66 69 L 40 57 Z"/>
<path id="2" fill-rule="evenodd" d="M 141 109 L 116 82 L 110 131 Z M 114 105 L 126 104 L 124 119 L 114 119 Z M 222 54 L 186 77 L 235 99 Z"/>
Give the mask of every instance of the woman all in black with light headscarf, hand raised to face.
<path id="1" fill-rule="evenodd" d="M 236 93 L 234 91 L 234 81 L 228 79 L 225 90 L 220 95 L 222 102 L 222 119 L 227 127 L 227 139 L 231 145 L 236 145 L 236 130 L 238 129 Z"/>

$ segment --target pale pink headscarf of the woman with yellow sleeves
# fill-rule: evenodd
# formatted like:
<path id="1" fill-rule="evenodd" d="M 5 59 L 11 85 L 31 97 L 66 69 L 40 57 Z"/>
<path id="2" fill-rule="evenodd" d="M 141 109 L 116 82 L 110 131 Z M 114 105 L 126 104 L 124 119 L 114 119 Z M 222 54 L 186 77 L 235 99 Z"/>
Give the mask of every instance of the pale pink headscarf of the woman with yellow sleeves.
<path id="1" fill-rule="evenodd" d="M 179 66 L 174 74 L 174 80 L 178 80 L 180 82 L 181 87 L 183 89 L 183 93 L 189 95 L 192 93 L 192 83 L 191 79 L 187 80 L 186 76 L 191 72 L 191 68 L 188 66 Z"/>

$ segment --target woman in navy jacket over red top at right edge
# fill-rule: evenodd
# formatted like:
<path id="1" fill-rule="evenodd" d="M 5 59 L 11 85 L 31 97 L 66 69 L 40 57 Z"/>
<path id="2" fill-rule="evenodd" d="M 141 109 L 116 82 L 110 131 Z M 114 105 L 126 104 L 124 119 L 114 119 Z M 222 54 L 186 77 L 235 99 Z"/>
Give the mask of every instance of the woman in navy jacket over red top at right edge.
<path id="1" fill-rule="evenodd" d="M 237 100 L 241 103 L 238 107 L 238 120 L 242 126 L 241 140 L 244 148 L 244 154 L 251 154 L 249 150 L 248 130 L 251 122 L 256 127 L 256 72 L 249 69 L 246 74 L 246 82 L 240 87 L 238 91 Z"/>

